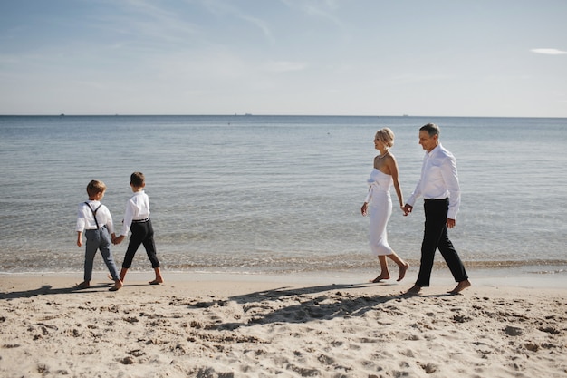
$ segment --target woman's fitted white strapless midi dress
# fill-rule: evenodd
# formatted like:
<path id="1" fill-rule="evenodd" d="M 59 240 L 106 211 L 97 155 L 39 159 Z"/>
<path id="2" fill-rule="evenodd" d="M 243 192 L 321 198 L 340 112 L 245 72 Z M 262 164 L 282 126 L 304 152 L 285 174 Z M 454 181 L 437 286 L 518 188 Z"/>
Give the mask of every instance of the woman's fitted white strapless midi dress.
<path id="1" fill-rule="evenodd" d="M 388 244 L 386 226 L 392 215 L 392 199 L 389 195 L 392 177 L 381 170 L 373 169 L 368 183 L 370 189 L 365 202 L 369 204 L 370 250 L 376 256 L 389 255 L 393 251 Z"/>

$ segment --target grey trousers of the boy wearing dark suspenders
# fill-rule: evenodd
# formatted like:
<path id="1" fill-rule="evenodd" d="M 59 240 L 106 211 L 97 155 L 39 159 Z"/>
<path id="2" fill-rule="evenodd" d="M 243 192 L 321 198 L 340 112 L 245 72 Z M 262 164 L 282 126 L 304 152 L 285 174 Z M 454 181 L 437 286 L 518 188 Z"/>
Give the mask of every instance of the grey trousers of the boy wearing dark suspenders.
<path id="1" fill-rule="evenodd" d="M 120 279 L 118 268 L 114 264 L 114 257 L 111 252 L 111 235 L 106 227 L 99 229 L 87 229 L 84 232 L 87 243 L 84 252 L 84 280 L 91 281 L 92 278 L 92 262 L 97 250 L 101 250 L 104 264 L 109 268 L 113 280 Z"/>

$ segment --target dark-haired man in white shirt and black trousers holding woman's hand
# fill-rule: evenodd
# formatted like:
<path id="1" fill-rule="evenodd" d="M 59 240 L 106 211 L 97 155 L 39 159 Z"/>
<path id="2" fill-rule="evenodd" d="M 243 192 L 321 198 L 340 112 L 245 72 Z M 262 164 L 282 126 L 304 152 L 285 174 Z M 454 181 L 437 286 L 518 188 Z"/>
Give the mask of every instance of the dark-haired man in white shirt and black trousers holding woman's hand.
<path id="1" fill-rule="evenodd" d="M 439 127 L 434 123 L 428 123 L 419 129 L 419 144 L 427 152 L 421 167 L 421 178 L 403 208 L 404 215 L 408 215 L 416 199 L 424 199 L 426 222 L 421 244 L 421 265 L 418 280 L 408 290 L 408 294 L 418 294 L 421 287 L 429 286 L 437 248 L 457 282 L 449 293 L 457 294 L 471 286 L 465 267 L 447 234 L 447 228 L 455 227 L 461 193 L 455 157 L 441 146 L 439 132 Z"/>

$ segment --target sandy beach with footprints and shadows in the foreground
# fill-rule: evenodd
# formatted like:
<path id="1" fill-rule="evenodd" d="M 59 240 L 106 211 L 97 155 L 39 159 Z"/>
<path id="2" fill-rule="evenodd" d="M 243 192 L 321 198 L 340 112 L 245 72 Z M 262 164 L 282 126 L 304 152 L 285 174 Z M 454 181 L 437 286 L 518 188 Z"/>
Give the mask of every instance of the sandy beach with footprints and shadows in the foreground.
<path id="1" fill-rule="evenodd" d="M 165 277 L 0 275 L 0 376 L 567 376 L 567 288 L 537 278 Z"/>

